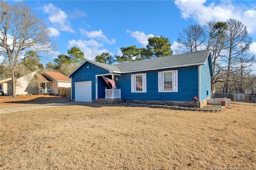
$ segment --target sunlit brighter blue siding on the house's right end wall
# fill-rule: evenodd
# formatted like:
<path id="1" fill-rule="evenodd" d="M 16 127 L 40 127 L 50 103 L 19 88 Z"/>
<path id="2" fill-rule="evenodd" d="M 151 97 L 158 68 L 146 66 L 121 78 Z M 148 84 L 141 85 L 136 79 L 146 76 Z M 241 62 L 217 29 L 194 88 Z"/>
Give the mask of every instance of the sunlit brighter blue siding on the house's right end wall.
<path id="1" fill-rule="evenodd" d="M 210 57 L 210 56 L 209 56 Z M 208 57 L 208 60 L 209 60 Z M 211 93 L 211 73 L 209 62 L 206 61 L 205 65 L 201 65 L 201 101 L 210 97 Z M 208 91 L 208 95 L 207 95 Z"/>

